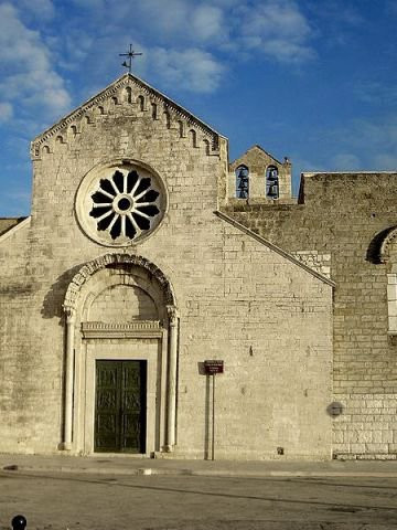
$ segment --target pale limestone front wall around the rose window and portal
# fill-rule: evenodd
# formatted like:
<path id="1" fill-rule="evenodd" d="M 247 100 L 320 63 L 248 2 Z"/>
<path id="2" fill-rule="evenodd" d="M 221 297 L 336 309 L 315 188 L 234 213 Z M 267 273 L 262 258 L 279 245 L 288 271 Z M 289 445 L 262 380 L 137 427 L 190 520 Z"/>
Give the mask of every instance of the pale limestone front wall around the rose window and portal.
<path id="1" fill-rule="evenodd" d="M 34 292 L 8 389 L 8 395 L 18 392 L 9 410 L 19 422 L 0 427 L 0 451 L 58 451 L 62 304 L 82 265 L 111 252 L 81 229 L 76 194 L 94 167 L 128 160 L 151 168 L 169 194 L 159 230 L 122 252 L 150 259 L 175 292 L 179 454 L 207 455 L 210 386 L 202 362 L 222 356 L 219 456 L 273 457 L 277 447 L 286 457 L 330 456 L 331 287 L 214 215 L 225 199 L 226 152 L 225 139 L 129 76 L 33 142 L 32 220 L 23 243 Z M 17 327 L 7 333 L 6 349 L 17 333 Z M 128 343 L 111 342 L 114 353 L 118 347 L 126 358 Z"/>

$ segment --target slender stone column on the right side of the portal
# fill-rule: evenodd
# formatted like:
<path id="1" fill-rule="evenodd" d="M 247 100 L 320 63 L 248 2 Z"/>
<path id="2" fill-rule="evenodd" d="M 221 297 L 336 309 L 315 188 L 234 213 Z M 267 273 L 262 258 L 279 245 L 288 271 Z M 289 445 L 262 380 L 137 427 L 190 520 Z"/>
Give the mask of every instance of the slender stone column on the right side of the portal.
<path id="1" fill-rule="evenodd" d="M 178 358 L 178 312 L 174 306 L 167 306 L 169 316 L 169 367 L 167 394 L 167 443 L 165 449 L 171 452 L 175 445 L 176 416 L 176 358 Z"/>

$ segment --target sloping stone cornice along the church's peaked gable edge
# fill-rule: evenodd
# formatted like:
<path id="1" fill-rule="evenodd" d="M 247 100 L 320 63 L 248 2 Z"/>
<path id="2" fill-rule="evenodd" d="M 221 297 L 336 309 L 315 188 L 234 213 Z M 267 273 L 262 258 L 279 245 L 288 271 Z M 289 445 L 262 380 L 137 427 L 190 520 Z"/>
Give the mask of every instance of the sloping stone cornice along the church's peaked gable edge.
<path id="1" fill-rule="evenodd" d="M 110 85 L 108 85 L 106 88 L 104 88 L 97 95 L 93 96 L 86 103 L 83 103 L 83 105 L 77 107 L 75 110 L 73 110 L 71 114 L 68 114 L 64 118 L 62 118 L 60 121 L 54 124 L 52 127 L 44 130 L 44 132 L 36 136 L 31 144 L 32 156 L 34 156 L 35 150 L 36 150 L 36 148 L 39 148 L 40 145 L 42 145 L 47 139 L 53 137 L 56 132 L 60 132 L 63 129 L 65 129 L 68 125 L 72 125 L 76 120 L 81 119 L 85 115 L 85 113 L 89 112 L 89 109 L 92 109 L 93 107 L 96 107 L 97 105 L 100 105 L 103 102 L 112 97 L 115 94 L 117 94 L 118 91 L 120 91 L 122 87 L 126 87 L 126 86 L 131 86 L 131 87 L 135 86 L 139 91 L 144 92 L 147 95 L 150 95 L 158 103 L 162 103 L 164 105 L 164 108 L 167 108 L 169 112 L 171 112 L 174 115 L 181 117 L 182 119 L 187 121 L 189 125 L 197 127 L 206 136 L 210 136 L 211 139 L 212 139 L 213 150 L 216 150 L 218 148 L 219 138 L 226 138 L 226 137 L 219 135 L 219 132 L 217 132 L 215 129 L 213 129 L 210 125 L 205 124 L 200 118 L 194 116 L 192 113 L 190 113 L 189 110 L 183 108 L 181 105 L 173 102 L 168 96 L 165 96 L 161 92 L 159 92 L 155 88 L 153 88 L 152 86 L 150 86 L 144 81 L 140 80 L 139 77 L 137 77 L 132 74 L 127 73 L 127 74 L 124 74 L 121 77 L 118 77 Z"/>

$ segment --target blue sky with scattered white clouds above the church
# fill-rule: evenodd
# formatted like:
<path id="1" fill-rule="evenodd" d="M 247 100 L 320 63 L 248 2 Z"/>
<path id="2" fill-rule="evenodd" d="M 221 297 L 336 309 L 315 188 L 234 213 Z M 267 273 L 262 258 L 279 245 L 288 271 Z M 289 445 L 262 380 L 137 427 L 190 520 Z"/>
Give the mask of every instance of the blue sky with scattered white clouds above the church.
<path id="1" fill-rule="evenodd" d="M 397 169 L 397 0 L 0 0 L 0 216 L 30 213 L 34 136 L 133 72 L 301 171 Z"/>

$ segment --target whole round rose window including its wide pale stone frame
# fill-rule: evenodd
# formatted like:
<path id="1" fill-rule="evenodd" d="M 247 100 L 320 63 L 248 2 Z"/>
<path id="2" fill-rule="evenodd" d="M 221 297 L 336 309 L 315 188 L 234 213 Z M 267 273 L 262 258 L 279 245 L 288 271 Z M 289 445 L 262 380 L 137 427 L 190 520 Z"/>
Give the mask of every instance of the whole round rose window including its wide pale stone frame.
<path id="1" fill-rule="evenodd" d="M 135 163 L 94 168 L 76 197 L 82 229 L 106 246 L 128 246 L 157 229 L 167 210 L 159 176 Z"/>

